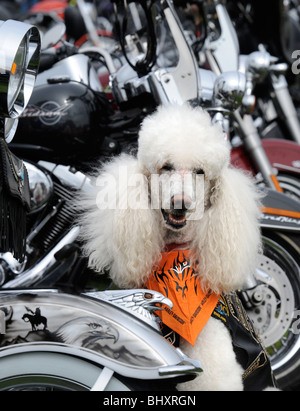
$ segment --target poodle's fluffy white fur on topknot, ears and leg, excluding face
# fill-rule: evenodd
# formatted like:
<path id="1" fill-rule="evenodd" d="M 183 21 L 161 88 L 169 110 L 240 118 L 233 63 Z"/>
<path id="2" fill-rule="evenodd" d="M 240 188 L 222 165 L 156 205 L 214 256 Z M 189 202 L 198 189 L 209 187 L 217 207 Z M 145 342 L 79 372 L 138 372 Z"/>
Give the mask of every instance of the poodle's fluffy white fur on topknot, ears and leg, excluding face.
<path id="1" fill-rule="evenodd" d="M 128 199 L 141 200 L 141 197 L 150 202 L 149 177 L 160 173 L 166 163 L 177 165 L 179 170 L 203 170 L 203 218 L 187 221 L 185 227 L 176 230 L 167 226 L 160 209 L 107 207 L 109 198 L 116 200 L 117 205 Z M 127 178 L 124 178 L 125 170 Z M 143 177 L 138 185 L 128 185 L 134 175 Z M 159 108 L 142 124 L 137 157 L 121 155 L 113 159 L 102 167 L 95 181 L 94 190 L 81 200 L 85 210 L 80 220 L 84 253 L 93 269 L 109 270 L 119 287 L 142 287 L 168 243 L 189 244 L 192 258 L 199 263 L 203 288 L 217 293 L 242 287 L 247 276 L 255 271 L 261 247 L 260 195 L 248 175 L 230 166 L 229 144 L 220 127 L 212 124 L 204 110 L 188 105 Z M 206 331 L 204 329 L 204 339 L 213 338 L 214 321 L 210 320 Z M 226 351 L 230 337 L 222 327 L 223 324 L 215 325 L 226 340 Z M 198 340 L 190 354 L 200 350 L 201 355 L 201 335 Z M 217 357 L 216 363 L 222 368 L 222 356 L 217 354 Z M 223 355 L 224 361 L 225 357 Z M 230 353 L 228 358 L 231 369 L 225 361 L 225 379 L 226 372 L 234 374 L 234 355 Z M 242 387 L 242 370 L 237 364 L 236 375 L 239 382 L 232 380 L 232 389 Z M 214 378 L 206 380 L 202 388 L 207 386 L 222 388 Z"/>

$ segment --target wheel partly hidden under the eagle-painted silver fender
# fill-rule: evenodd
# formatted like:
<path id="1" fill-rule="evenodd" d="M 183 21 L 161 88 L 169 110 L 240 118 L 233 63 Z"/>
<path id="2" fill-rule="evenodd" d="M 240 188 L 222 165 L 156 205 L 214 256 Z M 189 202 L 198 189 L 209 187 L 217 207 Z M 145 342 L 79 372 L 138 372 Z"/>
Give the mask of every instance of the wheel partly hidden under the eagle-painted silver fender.
<path id="1" fill-rule="evenodd" d="M 0 360 L 0 391 L 131 391 L 107 368 L 74 355 L 10 351 Z"/>

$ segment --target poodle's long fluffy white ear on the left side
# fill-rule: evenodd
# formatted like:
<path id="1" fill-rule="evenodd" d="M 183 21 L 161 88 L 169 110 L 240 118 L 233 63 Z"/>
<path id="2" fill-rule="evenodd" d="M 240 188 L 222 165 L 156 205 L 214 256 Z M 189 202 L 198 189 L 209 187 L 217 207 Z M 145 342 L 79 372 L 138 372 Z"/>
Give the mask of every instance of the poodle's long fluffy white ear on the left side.
<path id="1" fill-rule="evenodd" d="M 160 256 L 162 240 L 149 206 L 148 180 L 136 158 L 122 155 L 104 166 L 81 208 L 90 267 L 108 270 L 119 287 L 142 286 Z"/>

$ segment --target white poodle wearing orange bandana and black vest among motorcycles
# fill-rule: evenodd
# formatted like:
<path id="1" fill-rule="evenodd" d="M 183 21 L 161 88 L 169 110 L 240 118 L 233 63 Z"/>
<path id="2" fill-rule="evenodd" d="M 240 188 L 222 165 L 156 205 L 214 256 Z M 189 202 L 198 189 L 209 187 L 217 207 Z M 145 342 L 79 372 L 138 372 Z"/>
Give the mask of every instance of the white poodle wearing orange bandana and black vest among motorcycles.
<path id="1" fill-rule="evenodd" d="M 260 196 L 250 177 L 230 167 L 229 144 L 209 114 L 188 105 L 159 108 L 142 124 L 137 158 L 121 155 L 105 164 L 95 190 L 81 205 L 90 267 L 109 270 L 121 288 L 153 286 L 157 280 L 157 290 L 169 297 L 180 291 L 177 305 L 182 311 L 191 311 L 191 292 L 195 296 L 201 291 L 202 303 L 211 295 L 214 307 L 218 303 L 194 339 L 185 338 L 189 331 L 181 332 L 185 320 L 180 316 L 192 324 L 201 308 L 168 313 L 173 322 L 179 321 L 180 348 L 199 359 L 204 370 L 179 389 L 243 390 L 246 377 L 251 381 L 252 374 L 258 381 L 264 365 L 270 371 L 266 353 L 232 294 L 256 268 Z M 164 256 L 174 251 L 182 254 L 170 269 Z M 186 267 L 192 268 L 189 278 Z M 246 355 L 244 365 L 233 345 L 238 336 L 228 327 L 233 318 L 238 324 L 233 328 L 240 327 L 259 346 L 258 355 L 251 361 Z"/>

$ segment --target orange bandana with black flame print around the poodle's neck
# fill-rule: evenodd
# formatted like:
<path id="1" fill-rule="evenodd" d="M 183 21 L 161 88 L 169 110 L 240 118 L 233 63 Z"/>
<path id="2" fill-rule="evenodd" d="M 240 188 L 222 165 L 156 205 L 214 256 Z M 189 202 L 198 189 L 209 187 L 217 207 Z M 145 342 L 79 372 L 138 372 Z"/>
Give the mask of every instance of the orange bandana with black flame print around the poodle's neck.
<path id="1" fill-rule="evenodd" d="M 159 312 L 164 324 L 192 345 L 216 307 L 219 295 L 204 292 L 197 276 L 197 265 L 192 265 L 187 251 L 162 254 L 160 268 L 147 280 L 146 288 L 169 298 L 173 309 Z"/>

